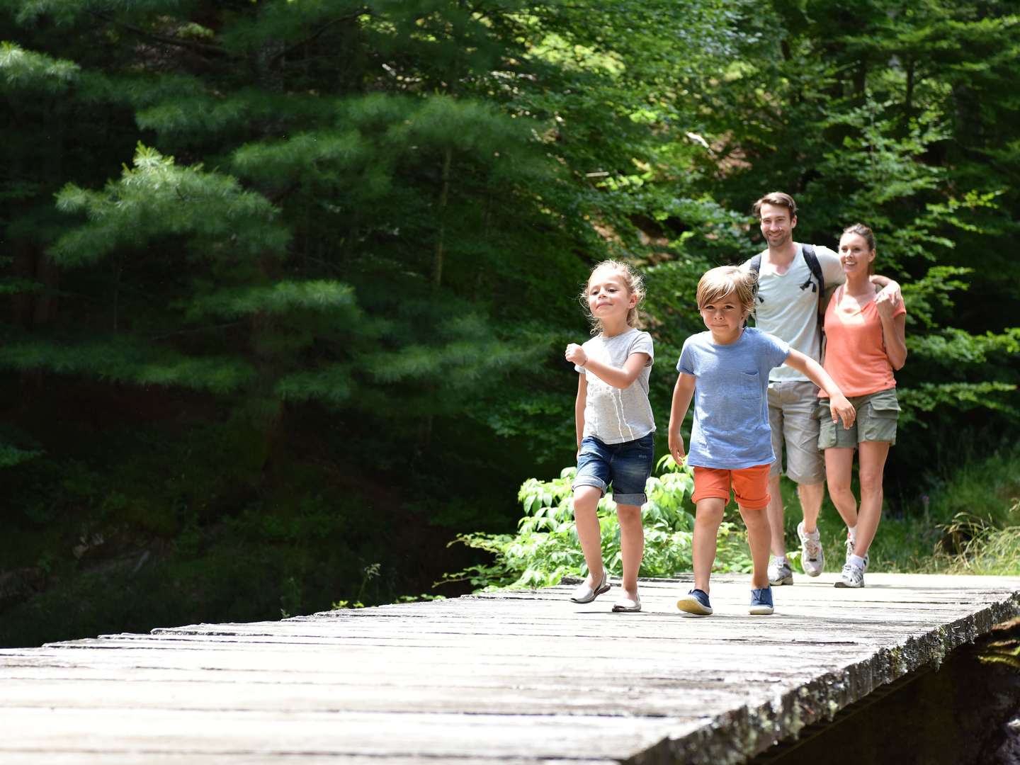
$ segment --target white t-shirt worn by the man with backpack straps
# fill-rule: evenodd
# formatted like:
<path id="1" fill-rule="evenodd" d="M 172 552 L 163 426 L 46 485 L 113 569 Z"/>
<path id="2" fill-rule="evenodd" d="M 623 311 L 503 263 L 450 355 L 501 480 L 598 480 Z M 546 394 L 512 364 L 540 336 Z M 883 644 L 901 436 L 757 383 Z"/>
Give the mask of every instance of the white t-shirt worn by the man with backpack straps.
<path id="1" fill-rule="evenodd" d="M 797 244 L 797 243 L 795 243 Z M 814 245 L 818 264 L 822 268 L 825 290 L 847 280 L 839 263 L 839 256 L 827 247 Z M 776 273 L 767 260 L 768 250 L 762 252 L 761 270 L 758 272 L 758 299 L 755 301 L 755 326 L 786 341 L 789 347 L 821 363 L 821 329 L 818 326 L 818 283 L 811 275 L 804 259 L 803 245 L 797 244 L 797 255 L 785 273 Z M 744 266 L 748 267 L 748 259 Z M 792 366 L 777 366 L 769 372 L 770 381 L 808 381 Z"/>

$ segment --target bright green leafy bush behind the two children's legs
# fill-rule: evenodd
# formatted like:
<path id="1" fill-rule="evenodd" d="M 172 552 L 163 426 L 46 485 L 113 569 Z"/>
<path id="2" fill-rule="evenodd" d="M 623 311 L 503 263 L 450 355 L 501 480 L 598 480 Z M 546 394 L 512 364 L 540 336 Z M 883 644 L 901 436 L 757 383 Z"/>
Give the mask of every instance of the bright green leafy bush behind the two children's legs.
<path id="1" fill-rule="evenodd" d="M 694 534 L 694 474 L 686 465 L 677 465 L 672 457 L 659 460 L 658 475 L 645 487 L 648 502 L 642 508 L 645 527 L 645 557 L 642 576 L 675 576 L 691 570 L 691 540 Z M 575 468 L 564 468 L 558 478 L 528 478 L 517 499 L 524 515 L 516 534 L 464 533 L 454 541 L 484 550 L 494 556 L 492 563 L 469 566 L 447 574 L 445 581 L 470 581 L 476 588 L 540 588 L 559 583 L 566 576 L 586 573 L 584 556 L 573 519 L 571 483 Z M 621 574 L 620 524 L 613 495 L 599 502 L 599 527 L 602 531 L 602 558 L 610 573 Z M 716 571 L 750 571 L 751 556 L 747 534 L 733 520 L 719 527 Z"/>

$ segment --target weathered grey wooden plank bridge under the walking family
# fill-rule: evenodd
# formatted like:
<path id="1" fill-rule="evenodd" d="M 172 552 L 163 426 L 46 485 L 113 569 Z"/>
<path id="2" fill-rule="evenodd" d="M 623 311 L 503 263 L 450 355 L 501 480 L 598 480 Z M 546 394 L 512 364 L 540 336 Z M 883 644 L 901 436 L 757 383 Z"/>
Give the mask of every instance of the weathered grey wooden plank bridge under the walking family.
<path id="1" fill-rule="evenodd" d="M 1020 613 L 1020 578 L 568 586 L 0 651 L 0 763 L 736 763 Z"/>

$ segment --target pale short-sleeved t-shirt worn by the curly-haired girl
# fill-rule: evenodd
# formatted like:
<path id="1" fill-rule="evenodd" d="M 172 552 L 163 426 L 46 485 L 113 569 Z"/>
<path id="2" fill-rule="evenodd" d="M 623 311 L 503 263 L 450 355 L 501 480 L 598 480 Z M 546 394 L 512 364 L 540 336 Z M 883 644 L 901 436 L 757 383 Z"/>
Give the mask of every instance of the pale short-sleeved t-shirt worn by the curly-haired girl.
<path id="1" fill-rule="evenodd" d="M 589 358 L 621 368 L 631 353 L 647 353 L 648 363 L 626 388 L 613 388 L 586 369 L 574 369 L 588 379 L 584 399 L 584 432 L 603 444 L 622 444 L 648 436 L 655 429 L 652 405 L 648 402 L 648 378 L 655 354 L 652 336 L 631 327 L 622 335 L 604 338 L 599 335 L 581 348 Z"/>

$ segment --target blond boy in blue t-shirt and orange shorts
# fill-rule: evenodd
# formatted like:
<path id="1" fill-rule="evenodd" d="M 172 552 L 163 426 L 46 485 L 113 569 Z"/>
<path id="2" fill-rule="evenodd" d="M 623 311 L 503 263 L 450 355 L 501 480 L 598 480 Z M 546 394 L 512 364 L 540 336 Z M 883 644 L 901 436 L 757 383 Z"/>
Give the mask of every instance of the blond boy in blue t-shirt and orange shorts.
<path id="1" fill-rule="evenodd" d="M 686 458 L 694 467 L 691 499 L 697 507 L 695 589 L 676 607 L 703 616 L 712 613 L 708 580 L 730 484 L 748 527 L 754 563 L 751 613 L 773 611 L 766 573 L 769 524 L 765 508 L 769 468 L 775 459 L 768 422 L 769 370 L 787 364 L 803 372 L 828 393 L 833 422 L 842 418 L 844 427 L 850 427 L 854 421 L 854 407 L 817 361 L 778 338 L 745 326 L 755 307 L 756 283 L 754 271 L 731 265 L 713 268 L 701 277 L 698 310 L 708 332 L 687 338 L 676 364 L 679 376 L 669 412 L 669 452 L 677 463 L 683 460 L 680 424 L 694 397 L 695 421 Z"/>

